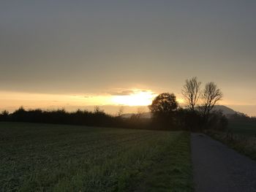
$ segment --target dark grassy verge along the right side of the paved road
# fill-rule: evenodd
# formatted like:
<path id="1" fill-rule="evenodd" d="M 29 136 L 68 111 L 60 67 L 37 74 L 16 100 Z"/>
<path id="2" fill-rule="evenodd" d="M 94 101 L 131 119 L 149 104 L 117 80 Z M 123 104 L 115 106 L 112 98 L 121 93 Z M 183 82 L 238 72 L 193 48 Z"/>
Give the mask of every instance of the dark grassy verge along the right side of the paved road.
<path id="1" fill-rule="evenodd" d="M 256 161 L 256 137 L 219 131 L 207 131 L 206 134 Z"/>

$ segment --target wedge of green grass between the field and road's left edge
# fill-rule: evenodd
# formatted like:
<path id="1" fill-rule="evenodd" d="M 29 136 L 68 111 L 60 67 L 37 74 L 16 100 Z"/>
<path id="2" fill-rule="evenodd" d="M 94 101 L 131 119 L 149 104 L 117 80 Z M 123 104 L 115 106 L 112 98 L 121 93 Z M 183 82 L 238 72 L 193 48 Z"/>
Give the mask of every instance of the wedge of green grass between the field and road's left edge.
<path id="1" fill-rule="evenodd" d="M 138 191 L 192 191 L 189 138 L 189 134 L 176 138 L 165 156 L 148 170 Z"/>

